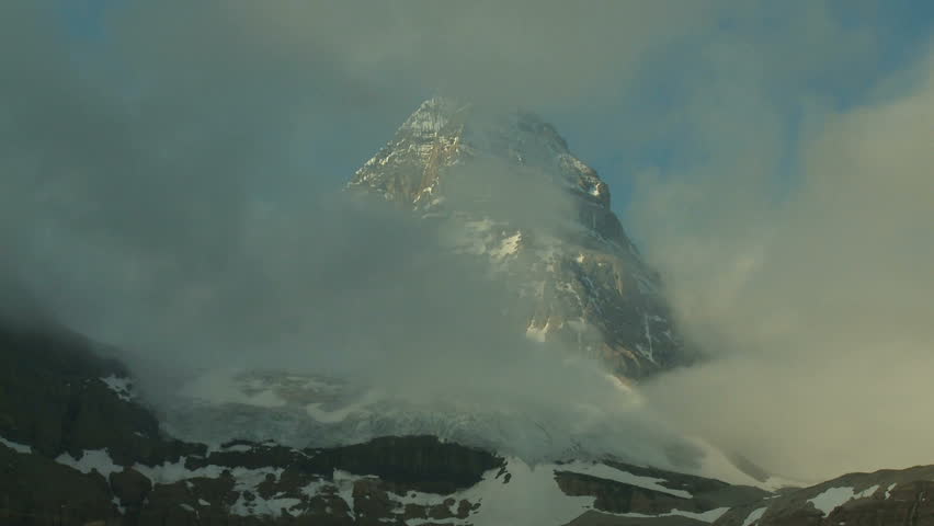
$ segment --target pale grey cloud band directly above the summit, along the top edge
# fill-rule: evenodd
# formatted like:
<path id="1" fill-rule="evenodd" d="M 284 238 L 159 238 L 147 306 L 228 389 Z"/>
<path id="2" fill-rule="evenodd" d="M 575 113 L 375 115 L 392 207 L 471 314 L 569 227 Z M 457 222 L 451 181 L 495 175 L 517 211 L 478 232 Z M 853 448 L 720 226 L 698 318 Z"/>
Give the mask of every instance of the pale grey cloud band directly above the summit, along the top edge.
<path id="1" fill-rule="evenodd" d="M 615 94 L 647 50 L 709 23 L 720 3 L 240 3 L 230 16 L 274 53 L 320 50 L 348 78 L 380 89 L 390 80 L 395 89 L 539 105 Z"/>

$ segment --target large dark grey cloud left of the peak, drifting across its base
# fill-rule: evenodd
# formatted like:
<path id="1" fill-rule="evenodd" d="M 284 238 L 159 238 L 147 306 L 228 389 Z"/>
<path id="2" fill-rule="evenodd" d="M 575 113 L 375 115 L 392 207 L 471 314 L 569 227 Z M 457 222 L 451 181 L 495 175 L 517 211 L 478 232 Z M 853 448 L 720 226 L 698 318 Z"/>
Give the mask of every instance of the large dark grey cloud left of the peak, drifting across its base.
<path id="1" fill-rule="evenodd" d="M 537 445 L 504 445 L 516 453 L 551 455 L 593 436 L 665 462 L 658 445 L 682 443 L 641 414 L 626 420 L 631 442 L 608 441 L 617 434 L 601 431 L 625 415 L 618 386 L 527 341 L 515 319 L 524 306 L 486 266 L 442 250 L 430 224 L 348 201 L 328 167 L 295 162 L 296 137 L 314 148 L 348 107 L 394 105 L 346 75 L 356 59 L 339 42 L 306 48 L 243 26 L 255 21 L 237 8 L 178 16 L 135 4 L 109 14 L 101 47 L 72 49 L 42 5 L 0 9 L 3 73 L 14 79 L 0 96 L 16 101 L 0 116 L 0 282 L 16 290 L 0 297 L 0 313 L 20 316 L 23 298 L 36 298 L 119 348 L 158 404 L 205 370 L 260 367 L 350 376 L 562 433 L 523 420 Z M 293 39 L 267 41 L 278 37 Z M 453 201 L 469 206 L 469 183 Z M 535 195 L 547 205 L 489 205 L 525 222 L 571 209 L 558 193 Z M 695 449 L 677 449 L 688 451 L 681 464 L 696 461 Z"/>

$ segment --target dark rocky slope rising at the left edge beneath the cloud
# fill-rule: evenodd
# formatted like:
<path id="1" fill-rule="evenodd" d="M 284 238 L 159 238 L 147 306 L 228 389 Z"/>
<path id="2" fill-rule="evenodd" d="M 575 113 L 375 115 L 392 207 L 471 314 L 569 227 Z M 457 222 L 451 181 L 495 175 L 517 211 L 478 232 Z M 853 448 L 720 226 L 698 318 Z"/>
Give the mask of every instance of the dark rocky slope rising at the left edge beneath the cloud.
<path id="1" fill-rule="evenodd" d="M 0 325 L 0 436 L 54 458 L 107 448 L 117 462 L 160 464 L 204 446 L 160 437 L 159 423 L 133 400 L 117 361 L 55 325 Z"/>

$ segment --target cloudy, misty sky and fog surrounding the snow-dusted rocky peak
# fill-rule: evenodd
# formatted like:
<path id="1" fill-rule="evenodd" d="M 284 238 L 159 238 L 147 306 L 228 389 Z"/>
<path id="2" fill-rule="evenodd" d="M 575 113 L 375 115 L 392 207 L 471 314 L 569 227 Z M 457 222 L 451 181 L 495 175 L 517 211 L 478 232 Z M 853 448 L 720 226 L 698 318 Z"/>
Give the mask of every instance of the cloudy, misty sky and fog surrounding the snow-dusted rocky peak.
<path id="1" fill-rule="evenodd" d="M 315 369 L 558 407 L 685 469 L 695 437 L 807 481 L 930 464 L 930 31 L 895 59 L 884 3 L 770 3 L 3 2 L 0 313 L 123 347 L 156 399 L 217 364 Z M 436 93 L 625 158 L 614 210 L 707 361 L 636 399 L 516 334 L 521 300 L 443 229 L 349 199 Z M 509 211 L 567 213 L 544 197 Z"/>

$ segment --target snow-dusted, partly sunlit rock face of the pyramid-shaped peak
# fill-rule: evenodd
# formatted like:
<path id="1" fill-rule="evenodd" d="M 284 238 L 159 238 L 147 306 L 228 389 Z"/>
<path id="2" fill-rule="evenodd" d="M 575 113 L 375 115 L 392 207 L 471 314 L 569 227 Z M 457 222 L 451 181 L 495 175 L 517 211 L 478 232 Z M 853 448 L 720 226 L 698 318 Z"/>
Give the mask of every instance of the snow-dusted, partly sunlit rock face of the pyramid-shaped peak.
<path id="1" fill-rule="evenodd" d="M 488 260 L 527 299 L 529 339 L 633 380 L 687 361 L 606 183 L 537 116 L 431 99 L 348 187 L 441 221 L 452 250 Z"/>

